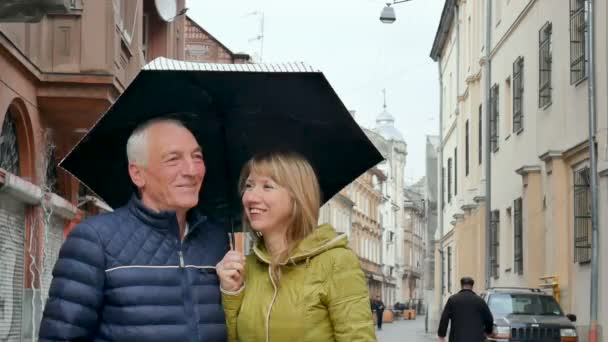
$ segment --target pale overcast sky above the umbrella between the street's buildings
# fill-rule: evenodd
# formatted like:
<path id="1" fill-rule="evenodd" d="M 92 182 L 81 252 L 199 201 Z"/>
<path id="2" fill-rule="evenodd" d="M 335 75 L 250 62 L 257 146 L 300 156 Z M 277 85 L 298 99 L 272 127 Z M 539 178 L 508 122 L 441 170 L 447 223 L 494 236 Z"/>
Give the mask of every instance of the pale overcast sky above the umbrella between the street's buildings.
<path id="1" fill-rule="evenodd" d="M 302 61 L 320 69 L 357 122 L 373 128 L 387 109 L 408 145 L 406 181 L 425 173 L 426 135 L 439 130 L 437 65 L 429 53 L 443 0 L 393 5 L 397 21 L 378 19 L 379 0 L 187 0 L 188 16 L 233 52 L 263 62 Z"/>

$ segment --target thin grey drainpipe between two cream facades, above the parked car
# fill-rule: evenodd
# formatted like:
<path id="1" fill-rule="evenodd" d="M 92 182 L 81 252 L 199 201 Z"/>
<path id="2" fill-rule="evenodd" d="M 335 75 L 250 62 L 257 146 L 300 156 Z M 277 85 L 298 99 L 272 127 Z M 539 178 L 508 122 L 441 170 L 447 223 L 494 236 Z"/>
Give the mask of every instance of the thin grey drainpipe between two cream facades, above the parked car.
<path id="1" fill-rule="evenodd" d="M 492 79 L 491 79 L 491 72 L 492 72 L 492 68 L 491 68 L 491 60 L 490 60 L 490 54 L 492 52 L 492 1 L 486 1 L 486 42 L 485 42 L 485 52 L 486 52 L 486 56 L 485 56 L 485 60 L 486 60 L 486 64 L 485 64 L 485 74 L 486 74 L 486 96 L 485 96 L 485 104 L 484 104 L 484 108 L 485 108 L 485 113 L 486 113 L 486 120 L 485 120 L 485 126 L 486 126 L 486 139 L 485 139 L 485 149 L 486 149 L 486 153 L 485 153 L 485 157 L 486 157 L 486 164 L 485 164 L 485 171 L 486 171 L 486 279 L 485 279 L 485 283 L 486 283 L 486 289 L 490 288 L 490 275 L 492 274 L 492 267 L 490 265 L 490 252 L 491 252 L 491 239 L 490 239 L 490 233 L 491 233 L 491 215 L 492 215 L 492 168 L 491 168 L 491 159 L 492 159 L 492 151 L 490 148 L 490 115 L 491 115 L 491 110 L 490 110 L 490 88 L 492 87 Z"/>

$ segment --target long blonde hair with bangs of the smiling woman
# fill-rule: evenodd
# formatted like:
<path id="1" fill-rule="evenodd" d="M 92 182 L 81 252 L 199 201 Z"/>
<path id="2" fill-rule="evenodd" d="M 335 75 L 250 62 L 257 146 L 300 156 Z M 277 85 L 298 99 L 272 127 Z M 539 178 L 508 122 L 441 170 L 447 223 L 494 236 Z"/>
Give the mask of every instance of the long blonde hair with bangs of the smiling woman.
<path id="1" fill-rule="evenodd" d="M 241 196 L 251 173 L 270 177 L 287 190 L 293 201 L 292 215 L 285 236 L 287 248 L 279 255 L 273 256 L 270 261 L 273 280 L 278 284 L 281 278 L 281 265 L 288 261 L 298 244 L 317 227 L 321 206 L 319 182 L 308 160 L 294 152 L 273 152 L 251 158 L 241 171 L 239 179 Z M 249 231 L 253 231 L 245 212 L 243 212 L 243 225 Z M 256 240 L 259 239 L 257 234 L 253 235 Z"/>

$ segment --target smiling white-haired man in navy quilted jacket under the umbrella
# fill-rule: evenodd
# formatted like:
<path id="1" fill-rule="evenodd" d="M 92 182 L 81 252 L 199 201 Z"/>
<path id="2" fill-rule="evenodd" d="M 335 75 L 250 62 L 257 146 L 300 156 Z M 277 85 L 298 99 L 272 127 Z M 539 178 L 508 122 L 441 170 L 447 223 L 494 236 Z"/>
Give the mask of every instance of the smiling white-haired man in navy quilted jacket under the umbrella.
<path id="1" fill-rule="evenodd" d="M 225 341 L 214 266 L 228 237 L 192 209 L 205 176 L 201 147 L 180 122 L 155 119 L 126 150 L 138 194 L 68 236 L 40 341 Z"/>

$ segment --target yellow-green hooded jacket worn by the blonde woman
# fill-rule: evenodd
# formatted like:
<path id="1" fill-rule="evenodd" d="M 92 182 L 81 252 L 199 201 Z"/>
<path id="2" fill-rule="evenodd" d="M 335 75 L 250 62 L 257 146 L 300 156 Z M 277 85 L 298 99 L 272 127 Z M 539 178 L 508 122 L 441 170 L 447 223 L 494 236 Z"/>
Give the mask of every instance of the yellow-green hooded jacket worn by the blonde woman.
<path id="1" fill-rule="evenodd" d="M 281 268 L 275 286 L 263 244 L 247 256 L 245 287 L 222 294 L 230 341 L 376 341 L 365 276 L 345 235 L 322 225 Z"/>

